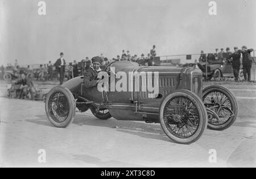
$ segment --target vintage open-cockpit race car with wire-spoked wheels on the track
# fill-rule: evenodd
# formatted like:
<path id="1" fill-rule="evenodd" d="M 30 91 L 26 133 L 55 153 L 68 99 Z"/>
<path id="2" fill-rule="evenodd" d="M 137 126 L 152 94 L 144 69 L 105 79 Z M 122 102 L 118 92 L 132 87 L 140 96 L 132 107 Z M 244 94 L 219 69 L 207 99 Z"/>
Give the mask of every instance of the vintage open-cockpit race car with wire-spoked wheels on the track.
<path id="1" fill-rule="evenodd" d="M 117 84 L 121 80 L 118 72 L 127 74 L 122 77 L 127 78 L 130 90 L 113 91 L 111 84 L 100 85 L 105 90 L 99 90 L 99 86 L 85 88 L 83 76 L 73 78 L 47 94 L 45 107 L 49 121 L 56 127 L 67 127 L 75 118 L 76 108 L 81 112 L 90 109 L 102 120 L 113 116 L 117 120 L 160 123 L 170 139 L 189 144 L 199 139 L 207 126 L 224 130 L 236 120 L 238 107 L 234 95 L 218 85 L 203 90 L 203 76 L 197 65 L 180 68 L 113 61 L 104 71 L 109 78 L 114 73 Z M 138 73 L 139 77 L 135 75 Z M 154 78 L 144 78 L 144 74 L 153 73 Z M 144 89 L 147 82 L 158 86 L 157 94 Z"/>

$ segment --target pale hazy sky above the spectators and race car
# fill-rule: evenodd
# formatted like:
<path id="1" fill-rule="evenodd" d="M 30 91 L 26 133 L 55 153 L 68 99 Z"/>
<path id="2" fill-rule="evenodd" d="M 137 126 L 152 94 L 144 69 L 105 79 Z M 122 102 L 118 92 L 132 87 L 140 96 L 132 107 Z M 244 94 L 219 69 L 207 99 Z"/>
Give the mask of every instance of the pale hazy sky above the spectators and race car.
<path id="1" fill-rule="evenodd" d="M 216 0 L 0 0 L 0 65 L 67 61 L 104 56 L 158 56 L 214 52 L 247 45 L 256 49 L 256 1 Z"/>

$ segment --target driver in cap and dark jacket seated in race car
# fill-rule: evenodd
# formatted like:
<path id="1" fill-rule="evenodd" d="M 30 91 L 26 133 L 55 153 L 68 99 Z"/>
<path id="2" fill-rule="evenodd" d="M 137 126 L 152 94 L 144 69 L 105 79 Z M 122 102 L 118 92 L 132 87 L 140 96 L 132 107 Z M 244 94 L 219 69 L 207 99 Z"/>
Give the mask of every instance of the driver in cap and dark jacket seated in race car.
<path id="1" fill-rule="evenodd" d="M 84 86 L 85 88 L 92 88 L 97 86 L 100 80 L 98 79 L 98 73 L 101 72 L 101 57 L 92 58 L 92 67 L 85 71 L 84 73 Z"/>

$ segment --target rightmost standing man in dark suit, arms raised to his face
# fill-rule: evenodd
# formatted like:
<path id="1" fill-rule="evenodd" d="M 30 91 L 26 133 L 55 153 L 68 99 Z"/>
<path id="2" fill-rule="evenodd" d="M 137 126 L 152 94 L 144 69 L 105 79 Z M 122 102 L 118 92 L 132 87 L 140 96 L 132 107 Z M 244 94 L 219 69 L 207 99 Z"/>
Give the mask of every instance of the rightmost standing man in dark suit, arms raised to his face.
<path id="1" fill-rule="evenodd" d="M 251 64 L 253 63 L 253 57 L 251 57 L 251 52 L 253 49 L 247 49 L 246 46 L 242 47 L 241 53 L 243 56 L 242 64 L 243 64 L 243 76 L 245 77 L 245 81 L 251 81 Z"/>

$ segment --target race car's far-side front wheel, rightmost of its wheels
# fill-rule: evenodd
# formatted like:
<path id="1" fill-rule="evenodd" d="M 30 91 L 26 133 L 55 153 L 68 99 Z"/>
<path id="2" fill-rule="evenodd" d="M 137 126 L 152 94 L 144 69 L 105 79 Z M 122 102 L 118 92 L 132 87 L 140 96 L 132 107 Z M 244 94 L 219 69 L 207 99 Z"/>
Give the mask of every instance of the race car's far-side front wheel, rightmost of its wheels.
<path id="1" fill-rule="evenodd" d="M 226 100 L 223 101 L 223 99 Z M 220 85 L 208 86 L 203 90 L 203 102 L 205 103 L 206 107 L 212 106 L 206 105 L 206 103 L 222 103 L 222 105 L 226 106 L 221 107 L 219 112 L 217 111 L 217 107 L 211 109 L 221 119 L 218 122 L 212 122 L 211 120 L 208 120 L 208 128 L 211 130 L 225 130 L 226 128 L 229 128 L 236 120 L 238 114 L 237 99 L 228 88 Z M 223 117 L 222 114 L 224 114 L 224 111 L 225 114 L 229 114 L 230 116 Z"/>

